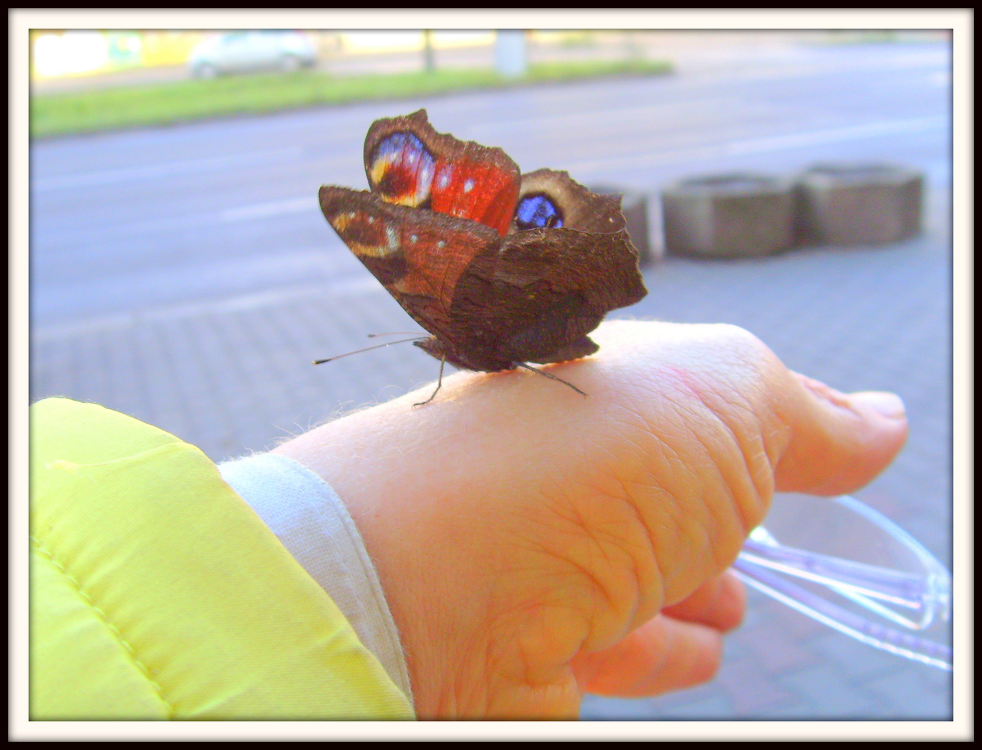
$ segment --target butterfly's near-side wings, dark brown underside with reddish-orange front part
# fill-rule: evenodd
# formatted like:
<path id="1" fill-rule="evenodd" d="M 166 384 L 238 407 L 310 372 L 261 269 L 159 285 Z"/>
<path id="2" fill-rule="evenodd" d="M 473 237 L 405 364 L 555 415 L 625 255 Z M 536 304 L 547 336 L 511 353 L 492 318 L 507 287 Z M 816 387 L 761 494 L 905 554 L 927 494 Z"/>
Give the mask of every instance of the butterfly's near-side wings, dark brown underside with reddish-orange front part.
<path id="1" fill-rule="evenodd" d="M 586 334 L 646 294 L 624 230 L 501 237 L 346 188 L 321 188 L 320 203 L 355 256 L 439 342 L 423 348 L 458 367 L 494 372 L 592 354 Z"/>

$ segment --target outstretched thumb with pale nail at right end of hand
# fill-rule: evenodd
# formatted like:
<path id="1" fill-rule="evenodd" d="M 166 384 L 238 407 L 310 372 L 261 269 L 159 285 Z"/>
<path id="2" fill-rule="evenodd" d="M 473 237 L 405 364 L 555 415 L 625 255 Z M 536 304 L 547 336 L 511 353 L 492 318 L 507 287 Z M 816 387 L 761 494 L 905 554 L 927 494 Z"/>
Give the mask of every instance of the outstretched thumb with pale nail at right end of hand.
<path id="1" fill-rule="evenodd" d="M 775 490 L 834 495 L 858 490 L 894 460 L 907 437 L 900 396 L 841 393 L 791 373 L 784 416 L 791 442 L 775 469 Z"/>

